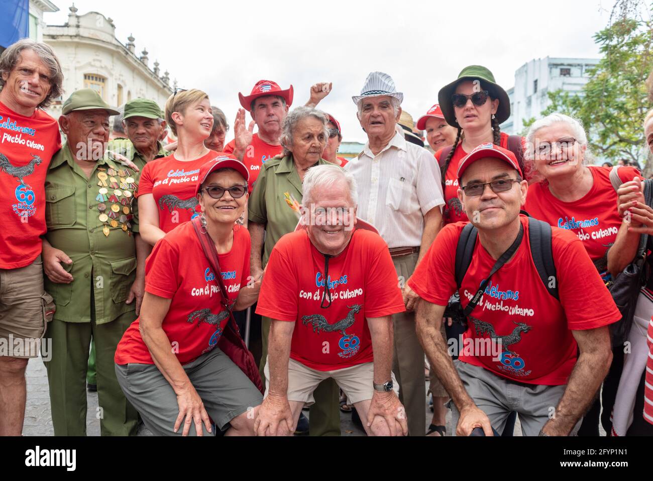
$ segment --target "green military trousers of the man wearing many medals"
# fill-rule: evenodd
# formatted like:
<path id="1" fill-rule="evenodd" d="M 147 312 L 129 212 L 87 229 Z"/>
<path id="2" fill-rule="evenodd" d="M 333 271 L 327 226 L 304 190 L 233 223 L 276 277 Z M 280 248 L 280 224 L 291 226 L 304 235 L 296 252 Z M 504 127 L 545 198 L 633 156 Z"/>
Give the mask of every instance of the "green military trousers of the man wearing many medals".
<path id="1" fill-rule="evenodd" d="M 93 304 L 91 304 L 91 310 Z M 52 339 L 50 361 L 44 364 L 50 384 L 50 409 L 55 436 L 86 436 L 86 371 L 91 337 L 95 340 L 97 397 L 94 413 L 100 419 L 103 436 L 135 436 L 138 412 L 125 399 L 116 379 L 114 354 L 127 327 L 136 319 L 135 312 L 125 312 L 112 322 L 48 323 L 46 339 Z"/>

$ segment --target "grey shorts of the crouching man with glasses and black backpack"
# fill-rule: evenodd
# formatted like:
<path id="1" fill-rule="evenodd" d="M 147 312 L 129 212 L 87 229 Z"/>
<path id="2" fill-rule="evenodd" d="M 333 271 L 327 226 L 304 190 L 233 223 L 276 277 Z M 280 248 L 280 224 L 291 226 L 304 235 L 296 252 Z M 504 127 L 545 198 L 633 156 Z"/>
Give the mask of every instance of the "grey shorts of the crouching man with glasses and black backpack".
<path id="1" fill-rule="evenodd" d="M 498 433 L 503 432 L 508 415 L 515 411 L 522 425 L 522 435 L 537 436 L 549 418 L 555 415 L 555 409 L 567 388 L 566 385 L 543 386 L 511 382 L 483 367 L 458 359 L 453 363 L 465 390 L 475 405 L 490 418 L 490 424 Z M 450 401 L 448 406 L 451 407 L 451 425 L 454 426 L 455 436 L 460 413 L 453 402 Z M 582 418 L 572 429 L 570 436 L 577 433 L 581 421 Z"/>

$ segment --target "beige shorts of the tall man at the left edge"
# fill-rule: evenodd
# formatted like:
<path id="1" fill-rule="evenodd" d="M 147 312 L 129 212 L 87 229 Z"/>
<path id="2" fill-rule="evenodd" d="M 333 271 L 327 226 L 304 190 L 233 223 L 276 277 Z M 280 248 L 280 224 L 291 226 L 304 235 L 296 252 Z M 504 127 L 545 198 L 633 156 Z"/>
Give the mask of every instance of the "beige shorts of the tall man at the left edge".
<path id="1" fill-rule="evenodd" d="M 54 310 L 40 256 L 19 269 L 0 269 L 0 356 L 38 357 Z"/>

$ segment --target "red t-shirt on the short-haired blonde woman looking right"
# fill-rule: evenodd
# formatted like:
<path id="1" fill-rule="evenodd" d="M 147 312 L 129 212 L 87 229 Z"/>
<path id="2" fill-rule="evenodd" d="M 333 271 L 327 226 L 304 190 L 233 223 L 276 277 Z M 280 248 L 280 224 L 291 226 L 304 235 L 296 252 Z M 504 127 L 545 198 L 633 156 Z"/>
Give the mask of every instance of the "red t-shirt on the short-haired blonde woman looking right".
<path id="1" fill-rule="evenodd" d="M 209 150 L 208 154 L 192 161 L 177 160 L 174 153 L 146 163 L 140 174 L 138 193 L 151 193 L 159 207 L 159 229 L 170 232 L 182 222 L 200 214 L 195 197 L 200 167 L 219 156 Z"/>

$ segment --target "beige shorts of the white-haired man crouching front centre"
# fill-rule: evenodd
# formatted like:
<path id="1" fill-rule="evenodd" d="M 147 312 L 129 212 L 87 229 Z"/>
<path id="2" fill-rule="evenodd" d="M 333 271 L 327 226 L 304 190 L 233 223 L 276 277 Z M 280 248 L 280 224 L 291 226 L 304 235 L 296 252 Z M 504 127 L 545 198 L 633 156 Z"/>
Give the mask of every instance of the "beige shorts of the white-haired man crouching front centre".
<path id="1" fill-rule="evenodd" d="M 270 386 L 270 368 L 266 361 L 265 369 L 265 395 L 268 395 Z M 399 394 L 399 385 L 397 380 L 392 376 L 394 384 L 394 393 Z M 298 401 L 310 406 L 315 403 L 313 391 L 323 380 L 333 378 L 336 384 L 342 389 L 347 396 L 347 404 L 356 404 L 360 401 L 372 399 L 374 394 L 374 363 L 358 364 L 334 371 L 317 371 L 298 363 L 295 359 L 289 359 L 288 362 L 288 401 Z"/>

